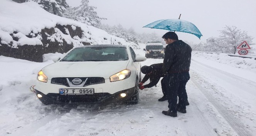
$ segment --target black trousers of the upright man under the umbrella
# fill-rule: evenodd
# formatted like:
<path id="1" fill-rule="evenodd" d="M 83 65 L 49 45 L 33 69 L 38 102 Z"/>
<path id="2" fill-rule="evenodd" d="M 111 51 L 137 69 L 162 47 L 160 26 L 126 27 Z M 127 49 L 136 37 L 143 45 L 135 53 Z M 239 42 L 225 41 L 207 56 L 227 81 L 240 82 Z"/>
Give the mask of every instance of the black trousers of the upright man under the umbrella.
<path id="1" fill-rule="evenodd" d="M 179 106 L 186 109 L 187 101 L 186 84 L 189 81 L 189 72 L 170 73 L 165 76 L 165 86 L 167 89 L 168 107 L 173 113 L 177 113 L 177 96 L 179 96 Z"/>

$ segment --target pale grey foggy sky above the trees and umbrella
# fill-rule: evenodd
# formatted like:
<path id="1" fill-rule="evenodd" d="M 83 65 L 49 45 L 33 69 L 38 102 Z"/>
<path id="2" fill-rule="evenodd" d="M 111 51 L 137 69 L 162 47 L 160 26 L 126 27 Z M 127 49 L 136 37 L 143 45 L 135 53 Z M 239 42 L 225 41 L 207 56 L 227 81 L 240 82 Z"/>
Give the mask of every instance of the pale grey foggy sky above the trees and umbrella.
<path id="1" fill-rule="evenodd" d="M 81 0 L 67 0 L 72 7 Z M 177 32 L 179 40 L 193 43 L 205 42 L 207 38 L 219 36 L 219 30 L 228 26 L 248 32 L 256 43 L 256 1 L 254 0 L 89 0 L 89 5 L 96 6 L 103 24 L 118 25 L 138 33 L 156 32 L 162 37 L 168 30 L 142 28 L 161 19 L 179 18 L 187 20 L 202 33 L 201 40 L 189 33 Z M 242 42 L 242 41 L 241 41 Z M 254 45 L 255 46 L 255 45 Z"/>

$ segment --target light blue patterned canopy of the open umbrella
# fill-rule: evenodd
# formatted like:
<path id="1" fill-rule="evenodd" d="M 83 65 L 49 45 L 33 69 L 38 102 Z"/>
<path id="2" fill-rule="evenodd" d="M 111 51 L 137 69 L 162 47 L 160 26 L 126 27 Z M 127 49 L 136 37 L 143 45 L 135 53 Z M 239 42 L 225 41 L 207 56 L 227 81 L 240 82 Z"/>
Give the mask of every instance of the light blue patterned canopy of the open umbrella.
<path id="1" fill-rule="evenodd" d="M 162 19 L 150 23 L 144 27 L 191 33 L 197 36 L 199 39 L 201 36 L 203 36 L 193 23 L 181 19 Z"/>

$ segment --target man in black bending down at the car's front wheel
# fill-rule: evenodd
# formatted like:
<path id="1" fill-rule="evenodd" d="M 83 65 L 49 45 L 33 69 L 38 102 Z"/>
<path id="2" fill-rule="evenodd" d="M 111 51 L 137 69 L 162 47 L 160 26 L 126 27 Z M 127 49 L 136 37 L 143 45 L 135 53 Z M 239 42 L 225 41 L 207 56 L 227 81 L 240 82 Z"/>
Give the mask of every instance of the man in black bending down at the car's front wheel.
<path id="1" fill-rule="evenodd" d="M 142 79 L 141 83 L 139 83 L 140 85 L 139 88 L 143 90 L 144 88 L 150 88 L 157 85 L 160 78 L 164 76 L 162 67 L 163 67 L 163 63 L 152 64 L 150 66 L 142 66 L 140 70 L 141 70 L 141 73 L 145 74 L 145 76 Z M 146 81 L 148 81 L 148 79 L 150 79 L 150 83 L 148 85 L 143 85 Z M 158 101 L 165 101 L 167 100 L 167 95 L 165 93 L 166 88 L 165 88 L 164 78 L 161 80 L 161 86 L 162 86 L 163 97 L 158 99 Z"/>

